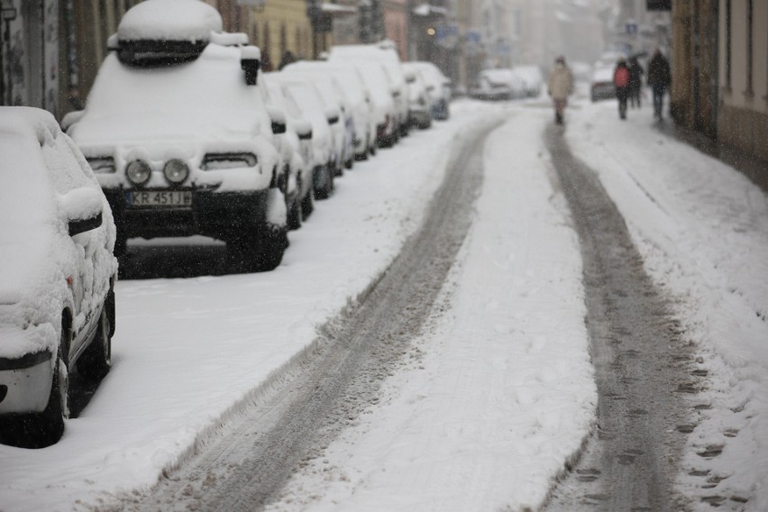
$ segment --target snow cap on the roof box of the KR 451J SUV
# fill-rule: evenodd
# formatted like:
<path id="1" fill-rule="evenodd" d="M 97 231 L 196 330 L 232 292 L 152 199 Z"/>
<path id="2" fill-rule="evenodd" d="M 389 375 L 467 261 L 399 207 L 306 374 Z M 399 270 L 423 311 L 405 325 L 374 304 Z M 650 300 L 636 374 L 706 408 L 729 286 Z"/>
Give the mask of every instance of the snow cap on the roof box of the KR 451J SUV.
<path id="1" fill-rule="evenodd" d="M 222 32 L 221 14 L 201 0 L 146 0 L 123 15 L 120 41 L 208 41 Z"/>

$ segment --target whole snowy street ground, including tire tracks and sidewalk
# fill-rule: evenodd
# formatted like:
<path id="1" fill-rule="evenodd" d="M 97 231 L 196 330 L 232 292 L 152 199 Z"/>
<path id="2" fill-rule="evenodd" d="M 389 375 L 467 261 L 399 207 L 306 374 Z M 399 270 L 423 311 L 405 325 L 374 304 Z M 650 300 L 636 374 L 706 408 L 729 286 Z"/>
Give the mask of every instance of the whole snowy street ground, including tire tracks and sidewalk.
<path id="1" fill-rule="evenodd" d="M 607 490 L 616 480 L 591 462 L 613 458 L 626 468 L 617 478 L 642 480 L 631 464 L 647 451 L 633 452 L 630 440 L 621 453 L 594 452 L 606 428 L 600 365 L 616 369 L 619 356 L 599 360 L 590 341 L 599 326 L 589 325 L 596 303 L 582 272 L 594 275 L 560 150 L 623 217 L 650 278 L 626 291 L 656 294 L 668 308 L 655 327 L 671 341 L 648 356 L 665 370 L 640 376 L 643 407 L 615 409 L 635 415 L 619 418 L 627 424 L 663 429 L 648 431 L 658 452 L 645 459 L 666 480 L 661 498 L 628 492 L 623 503 L 768 509 L 765 193 L 658 130 L 647 106 L 622 122 L 614 101 L 582 95 L 562 132 L 544 96 L 452 109 L 449 121 L 338 178 L 334 197 L 290 233 L 276 270 L 219 275 L 224 245 L 202 237 L 131 240 L 115 290 L 114 366 L 59 443 L 0 444 L 0 511 L 181 510 L 197 500 L 271 512 L 616 503 Z M 433 201 L 443 197 L 458 213 Z M 419 246 L 426 234 L 417 233 L 434 234 L 439 250 Z M 169 264 L 172 253 L 183 263 Z M 366 307 L 388 292 L 401 295 L 381 299 L 389 308 L 374 323 Z M 356 318 L 371 323 L 355 331 Z M 657 339 L 654 325 L 635 326 Z M 359 367 L 342 352 L 352 344 L 346 329 L 365 352 Z M 611 334 L 616 344 L 642 339 Z M 651 351 L 621 353 L 643 360 Z M 326 365 L 334 354 L 344 355 Z M 315 381 L 317 368 L 341 377 Z M 295 420 L 313 389 L 330 398 L 296 413 L 282 436 L 276 425 Z M 241 498 L 229 495 L 238 482 Z"/>

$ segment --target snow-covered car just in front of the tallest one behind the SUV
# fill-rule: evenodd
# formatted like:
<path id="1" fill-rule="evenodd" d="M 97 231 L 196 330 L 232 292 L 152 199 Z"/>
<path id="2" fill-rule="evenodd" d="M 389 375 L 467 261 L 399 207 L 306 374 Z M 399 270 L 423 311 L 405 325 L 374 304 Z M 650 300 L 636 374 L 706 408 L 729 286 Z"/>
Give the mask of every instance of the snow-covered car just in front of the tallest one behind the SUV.
<path id="1" fill-rule="evenodd" d="M 344 108 L 351 117 L 352 151 L 356 160 L 365 160 L 375 144 L 373 133 L 373 109 L 370 92 L 360 72 L 353 66 L 331 64 L 324 60 L 299 60 L 286 66 L 283 71 L 300 71 L 310 77 L 327 77 L 333 83 L 335 93 L 343 100 Z"/>

